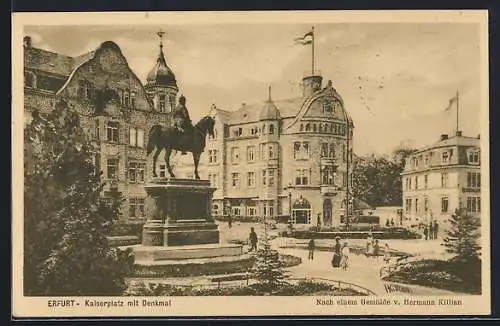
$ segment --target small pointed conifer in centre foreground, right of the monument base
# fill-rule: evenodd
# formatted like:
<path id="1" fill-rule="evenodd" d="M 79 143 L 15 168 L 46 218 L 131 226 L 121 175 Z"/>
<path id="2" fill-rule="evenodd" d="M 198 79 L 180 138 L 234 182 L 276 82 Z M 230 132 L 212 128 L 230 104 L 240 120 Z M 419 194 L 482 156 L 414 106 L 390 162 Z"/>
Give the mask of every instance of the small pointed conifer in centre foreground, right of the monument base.
<path id="1" fill-rule="evenodd" d="M 288 275 L 283 269 L 279 252 L 271 248 L 269 225 L 265 219 L 263 225 L 264 230 L 253 268 L 253 278 L 257 280 L 259 290 L 270 294 L 287 284 L 285 280 Z"/>

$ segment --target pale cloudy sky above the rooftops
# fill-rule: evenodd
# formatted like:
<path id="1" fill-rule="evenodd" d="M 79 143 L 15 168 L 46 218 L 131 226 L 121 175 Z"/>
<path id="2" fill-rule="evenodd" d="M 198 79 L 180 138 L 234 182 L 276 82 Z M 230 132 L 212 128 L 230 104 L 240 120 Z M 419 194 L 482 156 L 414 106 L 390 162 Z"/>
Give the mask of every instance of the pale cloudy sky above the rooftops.
<path id="1" fill-rule="evenodd" d="M 317 24 L 315 63 L 332 80 L 354 120 L 358 155 L 420 147 L 453 134 L 459 91 L 459 129 L 480 130 L 480 38 L 472 23 Z M 33 46 L 70 56 L 104 41 L 121 48 L 132 70 L 145 81 L 158 56 L 156 32 L 166 35 L 167 64 L 197 121 L 212 103 L 226 110 L 242 103 L 301 95 L 311 71 L 310 45 L 294 39 L 310 24 L 210 24 L 159 26 L 25 27 Z"/>

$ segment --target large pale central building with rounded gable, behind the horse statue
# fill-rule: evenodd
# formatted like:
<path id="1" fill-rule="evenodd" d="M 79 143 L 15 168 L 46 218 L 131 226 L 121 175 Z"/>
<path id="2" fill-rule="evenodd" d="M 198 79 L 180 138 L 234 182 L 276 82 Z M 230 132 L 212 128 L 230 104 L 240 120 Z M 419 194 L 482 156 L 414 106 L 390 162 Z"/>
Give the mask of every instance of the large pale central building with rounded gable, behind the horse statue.
<path id="1" fill-rule="evenodd" d="M 331 81 L 322 82 L 316 74 L 304 77 L 296 98 L 275 101 L 269 90 L 267 101 L 233 111 L 213 107 L 215 136 L 200 174 L 216 188 L 214 215 L 230 210 L 303 225 L 341 223 L 354 125 Z M 175 169 L 192 178 L 188 156 Z"/>

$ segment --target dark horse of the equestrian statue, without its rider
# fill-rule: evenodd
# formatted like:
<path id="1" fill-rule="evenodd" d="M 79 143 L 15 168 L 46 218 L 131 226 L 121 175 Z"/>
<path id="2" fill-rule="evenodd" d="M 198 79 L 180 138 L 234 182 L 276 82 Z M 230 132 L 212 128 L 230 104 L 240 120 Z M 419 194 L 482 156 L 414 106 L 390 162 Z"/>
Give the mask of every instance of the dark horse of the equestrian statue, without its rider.
<path id="1" fill-rule="evenodd" d="M 160 152 L 165 149 L 165 164 L 171 178 L 175 178 L 170 166 L 170 154 L 172 150 L 191 152 L 194 161 L 194 174 L 196 179 L 200 179 L 198 175 L 198 163 L 200 162 L 201 153 L 205 149 L 205 138 L 207 133 L 210 136 L 214 135 L 215 120 L 211 116 L 203 117 L 195 126 L 186 129 L 181 133 L 177 128 L 169 126 L 164 127 L 156 124 L 149 131 L 149 139 L 147 145 L 148 156 L 156 149 L 153 155 L 153 176 L 156 178 L 156 161 Z"/>

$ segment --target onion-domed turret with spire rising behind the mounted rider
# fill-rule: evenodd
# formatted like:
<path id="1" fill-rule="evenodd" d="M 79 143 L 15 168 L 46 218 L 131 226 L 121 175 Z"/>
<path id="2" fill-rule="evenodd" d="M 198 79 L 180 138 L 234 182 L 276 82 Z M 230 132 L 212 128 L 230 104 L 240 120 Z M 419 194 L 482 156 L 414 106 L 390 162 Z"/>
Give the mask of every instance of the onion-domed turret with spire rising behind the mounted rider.
<path id="1" fill-rule="evenodd" d="M 171 112 L 175 106 L 175 98 L 179 92 L 177 81 L 172 70 L 167 66 L 165 55 L 163 54 L 163 35 L 164 32 L 157 33 L 160 38 L 160 53 L 156 64 L 148 73 L 146 78 L 146 93 L 153 102 L 153 107 L 159 112 Z"/>

